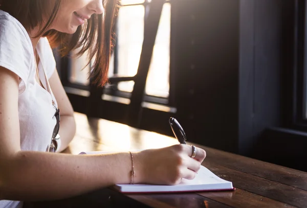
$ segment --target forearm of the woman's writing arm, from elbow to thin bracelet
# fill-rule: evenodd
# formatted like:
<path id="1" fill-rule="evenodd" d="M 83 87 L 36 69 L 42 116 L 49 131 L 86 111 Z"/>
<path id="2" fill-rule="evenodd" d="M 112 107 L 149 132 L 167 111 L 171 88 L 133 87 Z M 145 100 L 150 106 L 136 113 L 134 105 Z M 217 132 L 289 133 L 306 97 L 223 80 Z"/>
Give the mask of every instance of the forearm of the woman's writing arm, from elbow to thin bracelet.
<path id="1" fill-rule="evenodd" d="M 60 199 L 130 182 L 129 153 L 104 156 L 21 152 L 8 159 L 3 175 L 5 198 Z M 20 174 L 22 173 L 22 174 Z"/>

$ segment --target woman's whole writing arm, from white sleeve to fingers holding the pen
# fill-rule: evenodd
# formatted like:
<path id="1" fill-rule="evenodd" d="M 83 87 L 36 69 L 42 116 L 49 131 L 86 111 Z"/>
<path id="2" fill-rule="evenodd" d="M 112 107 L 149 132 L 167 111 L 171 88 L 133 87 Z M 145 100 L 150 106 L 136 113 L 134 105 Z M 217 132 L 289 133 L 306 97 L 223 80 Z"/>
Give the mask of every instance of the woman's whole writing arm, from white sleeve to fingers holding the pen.
<path id="1" fill-rule="evenodd" d="M 18 77 L 0 67 L 0 199 L 43 200 L 129 183 L 129 153 L 68 155 L 20 150 Z M 192 179 L 205 151 L 175 145 L 134 153 L 135 182 L 176 184 Z"/>

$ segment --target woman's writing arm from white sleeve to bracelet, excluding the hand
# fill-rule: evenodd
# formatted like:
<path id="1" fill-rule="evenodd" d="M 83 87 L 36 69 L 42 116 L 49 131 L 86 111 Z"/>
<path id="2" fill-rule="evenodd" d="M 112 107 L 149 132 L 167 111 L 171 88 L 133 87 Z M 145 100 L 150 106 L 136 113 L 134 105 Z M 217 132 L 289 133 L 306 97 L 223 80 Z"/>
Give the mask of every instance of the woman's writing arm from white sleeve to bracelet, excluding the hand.
<path id="1" fill-rule="evenodd" d="M 3 198 L 56 199 L 130 181 L 129 153 L 81 156 L 20 151 L 18 77 L 5 68 L 0 68 L 0 98 Z"/>

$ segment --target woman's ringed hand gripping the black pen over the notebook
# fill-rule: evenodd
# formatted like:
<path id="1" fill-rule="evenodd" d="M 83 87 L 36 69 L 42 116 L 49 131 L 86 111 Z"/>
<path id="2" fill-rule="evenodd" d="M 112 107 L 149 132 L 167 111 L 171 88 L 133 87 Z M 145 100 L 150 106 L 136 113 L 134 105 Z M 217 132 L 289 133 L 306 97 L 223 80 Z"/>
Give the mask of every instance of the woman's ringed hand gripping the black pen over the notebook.
<path id="1" fill-rule="evenodd" d="M 167 185 L 178 184 L 182 178 L 193 179 L 201 168 L 206 152 L 196 147 L 195 157 L 191 158 L 191 155 L 192 146 L 184 144 L 143 150 L 136 155 L 135 179 L 141 183 Z"/>

